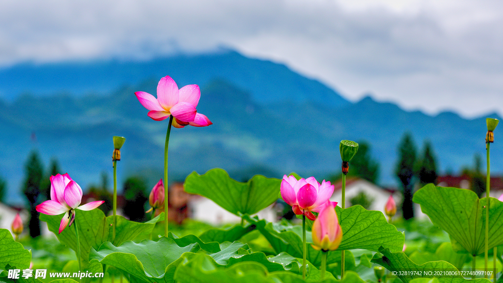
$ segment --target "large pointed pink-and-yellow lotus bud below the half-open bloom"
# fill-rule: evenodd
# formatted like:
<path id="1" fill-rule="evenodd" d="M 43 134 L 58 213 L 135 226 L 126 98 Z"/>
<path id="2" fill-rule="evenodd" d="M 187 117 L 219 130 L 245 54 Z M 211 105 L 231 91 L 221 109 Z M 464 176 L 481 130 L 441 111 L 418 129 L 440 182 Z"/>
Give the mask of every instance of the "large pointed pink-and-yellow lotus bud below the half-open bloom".
<path id="1" fill-rule="evenodd" d="M 334 251 L 337 250 L 343 240 L 343 230 L 339 225 L 336 210 L 333 206 L 323 205 L 323 209 L 314 221 L 312 228 L 313 244 L 316 250 Z"/>

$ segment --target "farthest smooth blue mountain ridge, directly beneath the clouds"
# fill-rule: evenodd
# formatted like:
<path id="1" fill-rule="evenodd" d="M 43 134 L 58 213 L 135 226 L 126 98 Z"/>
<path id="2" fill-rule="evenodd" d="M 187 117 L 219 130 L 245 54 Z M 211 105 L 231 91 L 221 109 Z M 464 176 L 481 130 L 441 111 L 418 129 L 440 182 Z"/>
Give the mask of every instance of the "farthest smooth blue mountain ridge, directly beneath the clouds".
<path id="1" fill-rule="evenodd" d="M 0 69 L 0 97 L 12 100 L 20 93 L 35 96 L 70 93 L 108 94 L 124 85 L 169 74 L 179 87 L 204 86 L 220 78 L 247 90 L 262 103 L 291 100 L 316 101 L 331 107 L 350 104 L 338 93 L 315 80 L 292 72 L 283 64 L 247 58 L 235 51 L 177 55 L 149 61 L 96 60 L 87 62 L 24 63 Z M 155 94 L 155 93 L 152 93 Z"/>

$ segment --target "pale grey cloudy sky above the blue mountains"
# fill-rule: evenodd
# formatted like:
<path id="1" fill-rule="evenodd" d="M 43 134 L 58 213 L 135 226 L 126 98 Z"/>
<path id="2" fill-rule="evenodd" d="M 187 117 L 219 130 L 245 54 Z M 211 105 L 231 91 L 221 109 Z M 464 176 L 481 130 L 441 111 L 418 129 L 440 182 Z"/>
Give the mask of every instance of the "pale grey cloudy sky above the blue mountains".
<path id="1" fill-rule="evenodd" d="M 0 3 L 0 67 L 219 47 L 285 63 L 351 101 L 503 115 L 500 0 Z"/>

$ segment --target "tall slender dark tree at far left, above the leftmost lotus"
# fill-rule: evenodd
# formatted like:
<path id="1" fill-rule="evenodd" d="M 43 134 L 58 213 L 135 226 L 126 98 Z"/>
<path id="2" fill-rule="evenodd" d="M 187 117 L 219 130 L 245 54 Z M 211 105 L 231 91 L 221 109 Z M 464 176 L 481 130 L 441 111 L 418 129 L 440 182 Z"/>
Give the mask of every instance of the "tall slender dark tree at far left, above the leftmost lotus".
<path id="1" fill-rule="evenodd" d="M 37 151 L 32 151 L 25 164 L 26 178 L 23 183 L 23 193 L 30 207 L 30 236 L 40 236 L 40 223 L 35 206 L 39 204 L 40 182 L 43 176 L 43 166 Z"/>

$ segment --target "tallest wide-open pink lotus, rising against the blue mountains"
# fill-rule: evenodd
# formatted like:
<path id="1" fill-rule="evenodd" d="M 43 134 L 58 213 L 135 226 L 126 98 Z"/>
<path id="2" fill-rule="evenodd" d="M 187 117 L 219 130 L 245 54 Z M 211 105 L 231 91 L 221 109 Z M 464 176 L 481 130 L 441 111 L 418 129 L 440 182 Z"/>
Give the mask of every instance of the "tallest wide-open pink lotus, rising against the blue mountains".
<path id="1" fill-rule="evenodd" d="M 134 93 L 143 107 L 150 110 L 148 117 L 162 121 L 173 115 L 173 126 L 183 128 L 187 125 L 204 127 L 213 124 L 208 117 L 197 113 L 196 106 L 201 97 L 198 85 L 188 85 L 180 90 L 175 81 L 166 76 L 157 85 L 157 99 L 146 92 Z"/>

